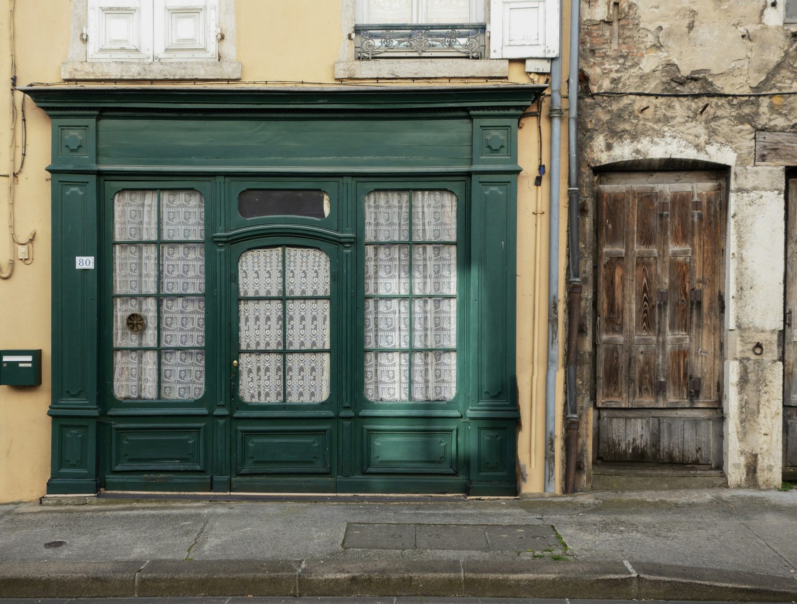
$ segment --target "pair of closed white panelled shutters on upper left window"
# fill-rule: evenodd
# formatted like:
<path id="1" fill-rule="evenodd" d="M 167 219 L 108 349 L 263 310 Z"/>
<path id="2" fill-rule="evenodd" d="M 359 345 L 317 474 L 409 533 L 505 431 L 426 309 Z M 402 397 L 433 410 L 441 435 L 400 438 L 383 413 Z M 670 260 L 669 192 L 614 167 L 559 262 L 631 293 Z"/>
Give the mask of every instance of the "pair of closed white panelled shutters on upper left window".
<path id="1" fill-rule="evenodd" d="M 214 0 L 88 0 L 88 61 L 215 59 Z"/>

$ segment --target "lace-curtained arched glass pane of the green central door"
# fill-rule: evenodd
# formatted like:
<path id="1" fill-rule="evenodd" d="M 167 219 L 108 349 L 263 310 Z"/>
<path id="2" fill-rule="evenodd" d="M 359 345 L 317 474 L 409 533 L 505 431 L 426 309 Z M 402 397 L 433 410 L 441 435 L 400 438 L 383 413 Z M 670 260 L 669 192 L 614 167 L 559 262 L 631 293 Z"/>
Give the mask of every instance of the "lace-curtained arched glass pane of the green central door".
<path id="1" fill-rule="evenodd" d="M 329 298 L 321 296 L 330 295 L 330 282 L 329 257 L 320 249 L 278 247 L 241 254 L 238 394 L 242 401 L 329 398 L 331 308 Z"/>

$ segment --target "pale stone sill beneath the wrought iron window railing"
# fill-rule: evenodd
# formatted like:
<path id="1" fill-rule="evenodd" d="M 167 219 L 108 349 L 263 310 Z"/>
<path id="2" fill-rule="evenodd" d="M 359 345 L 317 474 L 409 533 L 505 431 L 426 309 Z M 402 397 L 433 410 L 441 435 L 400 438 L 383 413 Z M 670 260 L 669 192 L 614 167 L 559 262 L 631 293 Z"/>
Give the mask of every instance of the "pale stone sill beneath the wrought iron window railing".
<path id="1" fill-rule="evenodd" d="M 335 64 L 336 80 L 391 78 L 485 77 L 507 78 L 505 59 L 371 59 Z"/>

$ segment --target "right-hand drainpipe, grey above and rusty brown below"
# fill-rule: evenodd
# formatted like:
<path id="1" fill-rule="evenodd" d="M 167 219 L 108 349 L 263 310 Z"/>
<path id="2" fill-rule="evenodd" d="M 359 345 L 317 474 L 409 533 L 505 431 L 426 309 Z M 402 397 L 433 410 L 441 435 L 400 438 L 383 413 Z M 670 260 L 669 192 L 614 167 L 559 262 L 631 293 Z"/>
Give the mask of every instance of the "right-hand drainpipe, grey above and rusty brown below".
<path id="1" fill-rule="evenodd" d="M 570 75 L 567 78 L 567 214 L 570 228 L 570 280 L 567 312 L 567 441 L 564 491 L 575 492 L 575 461 L 579 448 L 579 410 L 575 400 L 575 365 L 578 358 L 581 308 L 581 267 L 579 265 L 579 10 L 580 0 L 571 0 Z"/>

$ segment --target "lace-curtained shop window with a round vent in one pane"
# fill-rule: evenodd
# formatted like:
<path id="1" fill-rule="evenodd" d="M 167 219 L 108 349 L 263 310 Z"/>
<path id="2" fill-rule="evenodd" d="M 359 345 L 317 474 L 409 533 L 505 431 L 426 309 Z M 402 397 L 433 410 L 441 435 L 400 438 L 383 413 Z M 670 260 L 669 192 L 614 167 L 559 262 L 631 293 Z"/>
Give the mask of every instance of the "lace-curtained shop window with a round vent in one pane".
<path id="1" fill-rule="evenodd" d="M 199 398 L 205 390 L 205 245 L 198 242 L 205 237 L 204 198 L 195 190 L 123 190 L 113 207 L 113 345 L 121 349 L 113 353 L 114 394 Z M 140 331 L 128 326 L 133 313 L 143 317 Z"/>

